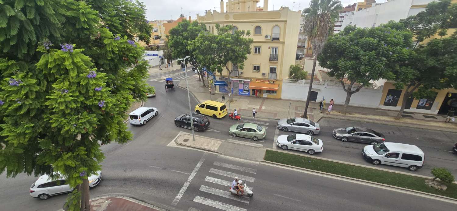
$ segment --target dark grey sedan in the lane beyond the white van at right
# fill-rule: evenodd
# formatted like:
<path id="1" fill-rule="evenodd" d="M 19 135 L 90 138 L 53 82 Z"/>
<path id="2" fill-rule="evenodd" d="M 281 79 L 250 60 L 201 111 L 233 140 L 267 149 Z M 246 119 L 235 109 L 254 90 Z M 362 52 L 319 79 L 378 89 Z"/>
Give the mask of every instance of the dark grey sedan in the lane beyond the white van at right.
<path id="1" fill-rule="evenodd" d="M 345 127 L 333 130 L 333 137 L 343 142 L 361 142 L 375 145 L 386 141 L 384 135 L 366 127 Z"/>

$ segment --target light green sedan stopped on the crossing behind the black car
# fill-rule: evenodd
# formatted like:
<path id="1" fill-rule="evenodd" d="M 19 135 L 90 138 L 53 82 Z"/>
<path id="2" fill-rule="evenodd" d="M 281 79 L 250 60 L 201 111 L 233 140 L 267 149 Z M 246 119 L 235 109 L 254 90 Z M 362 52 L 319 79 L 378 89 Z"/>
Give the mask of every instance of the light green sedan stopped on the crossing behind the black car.
<path id="1" fill-rule="evenodd" d="M 232 137 L 246 137 L 252 138 L 252 140 L 257 141 L 259 139 L 264 139 L 266 135 L 266 129 L 252 123 L 236 124 L 232 125 L 228 130 L 228 133 Z"/>

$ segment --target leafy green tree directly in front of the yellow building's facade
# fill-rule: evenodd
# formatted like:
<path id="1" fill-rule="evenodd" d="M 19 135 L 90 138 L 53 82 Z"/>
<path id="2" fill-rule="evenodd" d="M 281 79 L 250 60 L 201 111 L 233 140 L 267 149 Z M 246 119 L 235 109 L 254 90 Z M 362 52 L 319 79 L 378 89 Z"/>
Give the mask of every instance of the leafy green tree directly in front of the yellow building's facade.
<path id="1" fill-rule="evenodd" d="M 244 61 L 251 53 L 251 45 L 254 43 L 250 30 L 233 31 L 232 25 L 221 26 L 216 24 L 217 34 L 209 32 L 200 33 L 197 38 L 191 41 L 189 50 L 193 51 L 197 63 L 209 68 L 210 71 L 218 72 L 221 77 L 232 87 L 229 76 L 237 70 L 228 68 L 229 63 L 244 69 Z M 224 77 L 222 71 L 227 70 Z M 232 101 L 232 95 L 230 95 Z"/>

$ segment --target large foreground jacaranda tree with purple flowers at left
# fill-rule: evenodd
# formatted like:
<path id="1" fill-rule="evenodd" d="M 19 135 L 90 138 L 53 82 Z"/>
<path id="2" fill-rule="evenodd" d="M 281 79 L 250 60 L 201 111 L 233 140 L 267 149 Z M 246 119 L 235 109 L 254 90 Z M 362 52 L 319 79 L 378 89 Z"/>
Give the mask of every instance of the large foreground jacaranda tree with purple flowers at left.
<path id="1" fill-rule="evenodd" d="M 1 3 L 9 17 L 0 15 L 0 173 L 66 178 L 72 211 L 90 210 L 87 178 L 101 169 L 99 143 L 130 140 L 125 112 L 153 91 L 134 34 L 105 27 L 119 20 L 134 28 L 145 11 L 123 0 L 96 11 L 94 2 Z M 117 6 L 138 18 L 126 21 L 123 10 L 100 16 Z"/>

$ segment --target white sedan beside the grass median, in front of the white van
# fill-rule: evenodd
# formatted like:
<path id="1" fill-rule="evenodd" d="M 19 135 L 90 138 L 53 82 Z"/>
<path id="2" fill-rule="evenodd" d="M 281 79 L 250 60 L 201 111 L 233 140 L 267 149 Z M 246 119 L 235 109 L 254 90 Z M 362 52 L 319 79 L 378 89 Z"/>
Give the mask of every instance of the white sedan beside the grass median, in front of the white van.
<path id="1" fill-rule="evenodd" d="M 308 154 L 322 153 L 322 140 L 306 134 L 281 135 L 276 140 L 276 145 L 284 150 L 295 149 L 308 152 Z"/>

